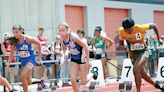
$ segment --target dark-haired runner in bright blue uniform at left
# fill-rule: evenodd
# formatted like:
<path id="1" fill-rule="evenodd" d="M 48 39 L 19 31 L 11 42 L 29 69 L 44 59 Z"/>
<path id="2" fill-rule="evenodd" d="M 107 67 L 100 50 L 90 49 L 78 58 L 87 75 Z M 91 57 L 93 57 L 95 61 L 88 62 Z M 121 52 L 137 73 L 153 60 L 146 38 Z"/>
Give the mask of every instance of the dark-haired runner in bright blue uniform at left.
<path id="1" fill-rule="evenodd" d="M 13 26 L 12 32 L 14 34 L 14 37 L 11 38 L 11 54 L 9 56 L 9 63 L 7 67 L 10 66 L 14 51 L 16 51 L 18 53 L 22 68 L 19 79 L 22 82 L 24 92 L 28 92 L 28 85 L 32 83 L 31 73 L 34 69 L 34 66 L 37 65 L 32 44 L 38 46 L 39 64 L 43 64 L 41 61 L 41 45 L 38 40 L 22 34 L 22 27 L 20 25 Z"/>

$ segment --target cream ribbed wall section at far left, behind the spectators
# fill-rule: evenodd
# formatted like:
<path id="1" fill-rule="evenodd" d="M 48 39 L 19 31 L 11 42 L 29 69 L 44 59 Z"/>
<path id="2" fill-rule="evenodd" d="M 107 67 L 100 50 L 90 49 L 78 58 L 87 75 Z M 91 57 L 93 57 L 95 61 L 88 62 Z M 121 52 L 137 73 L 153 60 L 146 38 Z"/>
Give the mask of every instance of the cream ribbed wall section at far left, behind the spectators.
<path id="1" fill-rule="evenodd" d="M 38 26 L 44 25 L 45 34 L 52 41 L 56 31 L 55 6 L 55 0 L 0 0 L 0 35 L 12 33 L 12 26 L 20 24 L 27 34 L 36 37 Z"/>

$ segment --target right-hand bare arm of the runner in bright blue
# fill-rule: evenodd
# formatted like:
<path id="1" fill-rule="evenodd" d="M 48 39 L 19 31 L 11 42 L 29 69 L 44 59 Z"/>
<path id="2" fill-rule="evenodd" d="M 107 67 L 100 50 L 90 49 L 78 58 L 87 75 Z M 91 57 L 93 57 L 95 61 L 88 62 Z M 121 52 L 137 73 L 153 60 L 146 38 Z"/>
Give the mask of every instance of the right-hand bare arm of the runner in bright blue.
<path id="1" fill-rule="evenodd" d="M 33 37 L 26 36 L 26 38 L 27 38 L 27 43 L 35 44 L 37 46 L 37 49 L 38 49 L 38 61 L 39 61 L 40 64 L 43 64 L 43 62 L 41 61 L 42 60 L 41 59 L 42 58 L 42 54 L 41 54 L 41 44 L 40 44 L 40 42 L 37 39 L 33 38 Z"/>

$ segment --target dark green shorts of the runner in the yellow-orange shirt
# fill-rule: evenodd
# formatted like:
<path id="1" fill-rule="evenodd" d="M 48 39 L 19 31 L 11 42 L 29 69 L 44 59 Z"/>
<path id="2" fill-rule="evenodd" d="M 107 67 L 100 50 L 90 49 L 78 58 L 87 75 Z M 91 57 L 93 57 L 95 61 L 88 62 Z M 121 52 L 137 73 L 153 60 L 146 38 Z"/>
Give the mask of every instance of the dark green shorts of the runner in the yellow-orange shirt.
<path id="1" fill-rule="evenodd" d="M 147 48 L 144 48 L 143 50 L 133 51 L 132 54 L 130 54 L 130 59 L 132 60 L 132 63 L 134 64 L 138 56 L 143 55 L 145 51 L 147 51 Z"/>

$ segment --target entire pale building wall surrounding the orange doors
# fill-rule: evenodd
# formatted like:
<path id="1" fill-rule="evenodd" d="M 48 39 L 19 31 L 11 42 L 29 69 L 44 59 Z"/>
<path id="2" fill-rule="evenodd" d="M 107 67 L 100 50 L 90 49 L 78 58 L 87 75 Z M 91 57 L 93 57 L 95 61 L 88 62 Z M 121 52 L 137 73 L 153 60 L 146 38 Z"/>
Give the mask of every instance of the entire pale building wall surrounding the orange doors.
<path id="1" fill-rule="evenodd" d="M 51 42 L 57 34 L 57 25 L 65 21 L 65 5 L 85 7 L 85 28 L 89 34 L 93 34 L 97 25 L 105 29 L 104 8 L 129 9 L 136 23 L 153 22 L 153 11 L 164 11 L 164 5 L 106 0 L 0 0 L 0 35 L 20 24 L 27 34 L 36 36 L 38 26 L 44 25 Z"/>

